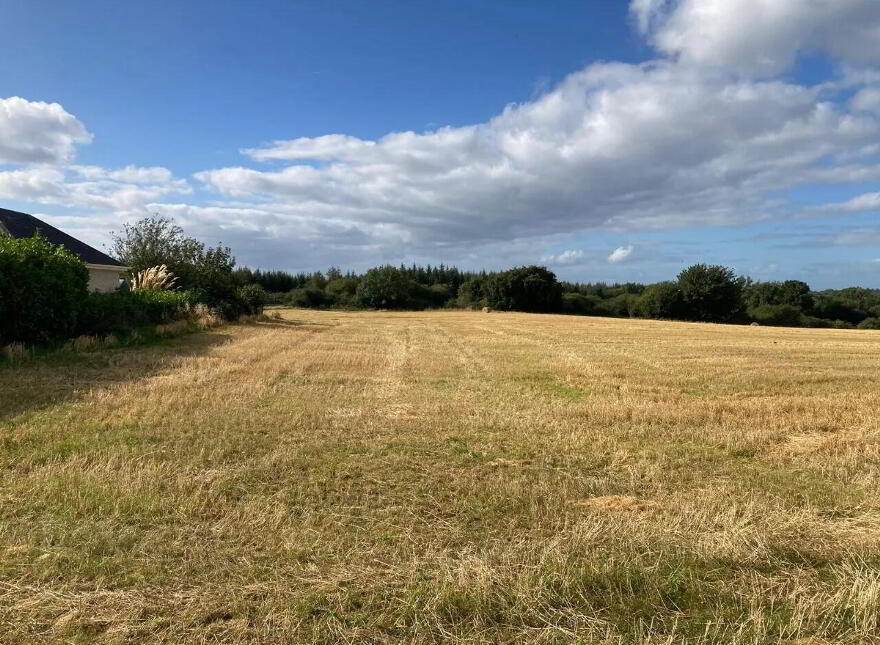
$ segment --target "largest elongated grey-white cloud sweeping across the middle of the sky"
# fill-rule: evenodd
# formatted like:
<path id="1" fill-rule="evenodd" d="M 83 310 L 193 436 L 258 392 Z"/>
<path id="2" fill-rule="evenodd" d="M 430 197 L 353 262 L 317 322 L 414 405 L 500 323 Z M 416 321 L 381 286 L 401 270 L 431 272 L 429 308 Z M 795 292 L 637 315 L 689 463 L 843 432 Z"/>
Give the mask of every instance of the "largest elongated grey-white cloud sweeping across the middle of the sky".
<path id="1" fill-rule="evenodd" d="M 487 123 L 376 141 L 276 141 L 280 169 L 196 174 L 225 198 L 397 230 L 413 243 L 478 244 L 597 226 L 738 223 L 770 193 L 848 180 L 880 122 L 822 89 L 735 80 L 672 62 L 597 64 Z M 860 179 L 864 181 L 864 176 Z"/>

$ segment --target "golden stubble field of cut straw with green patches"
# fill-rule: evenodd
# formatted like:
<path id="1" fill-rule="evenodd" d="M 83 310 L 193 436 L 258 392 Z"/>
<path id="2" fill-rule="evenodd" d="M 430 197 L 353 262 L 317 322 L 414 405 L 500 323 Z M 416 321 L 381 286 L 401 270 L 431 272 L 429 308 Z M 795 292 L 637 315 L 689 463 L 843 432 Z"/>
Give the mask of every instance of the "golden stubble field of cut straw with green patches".
<path id="1" fill-rule="evenodd" d="M 0 369 L 0 642 L 880 643 L 880 333 L 283 316 Z"/>

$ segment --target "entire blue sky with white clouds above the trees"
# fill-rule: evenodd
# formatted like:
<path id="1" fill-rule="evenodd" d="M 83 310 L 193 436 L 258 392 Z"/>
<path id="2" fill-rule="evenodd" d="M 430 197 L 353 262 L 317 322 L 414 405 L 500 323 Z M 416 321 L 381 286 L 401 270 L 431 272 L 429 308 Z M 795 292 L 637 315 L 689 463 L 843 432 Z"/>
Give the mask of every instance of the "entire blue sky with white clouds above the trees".
<path id="1" fill-rule="evenodd" d="M 239 264 L 880 287 L 880 0 L 0 0 L 0 207 Z"/>

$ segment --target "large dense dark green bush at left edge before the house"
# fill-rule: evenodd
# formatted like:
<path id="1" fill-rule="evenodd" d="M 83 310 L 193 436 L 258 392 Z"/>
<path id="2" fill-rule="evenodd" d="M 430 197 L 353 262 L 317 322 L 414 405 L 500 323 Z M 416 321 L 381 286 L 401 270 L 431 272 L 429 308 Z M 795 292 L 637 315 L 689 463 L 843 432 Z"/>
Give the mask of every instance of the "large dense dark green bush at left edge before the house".
<path id="1" fill-rule="evenodd" d="M 71 336 L 88 284 L 85 264 L 62 246 L 0 235 L 0 345 Z"/>

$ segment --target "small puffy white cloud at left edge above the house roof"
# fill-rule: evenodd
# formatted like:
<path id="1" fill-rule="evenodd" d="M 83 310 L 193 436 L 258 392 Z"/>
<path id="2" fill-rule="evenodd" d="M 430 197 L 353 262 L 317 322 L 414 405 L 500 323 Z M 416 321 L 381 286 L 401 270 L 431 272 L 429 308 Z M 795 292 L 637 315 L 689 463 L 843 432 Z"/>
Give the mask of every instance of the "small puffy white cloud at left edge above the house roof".
<path id="1" fill-rule="evenodd" d="M 57 103 L 0 98 L 0 164 L 71 161 L 78 143 L 89 143 L 85 126 Z"/>

